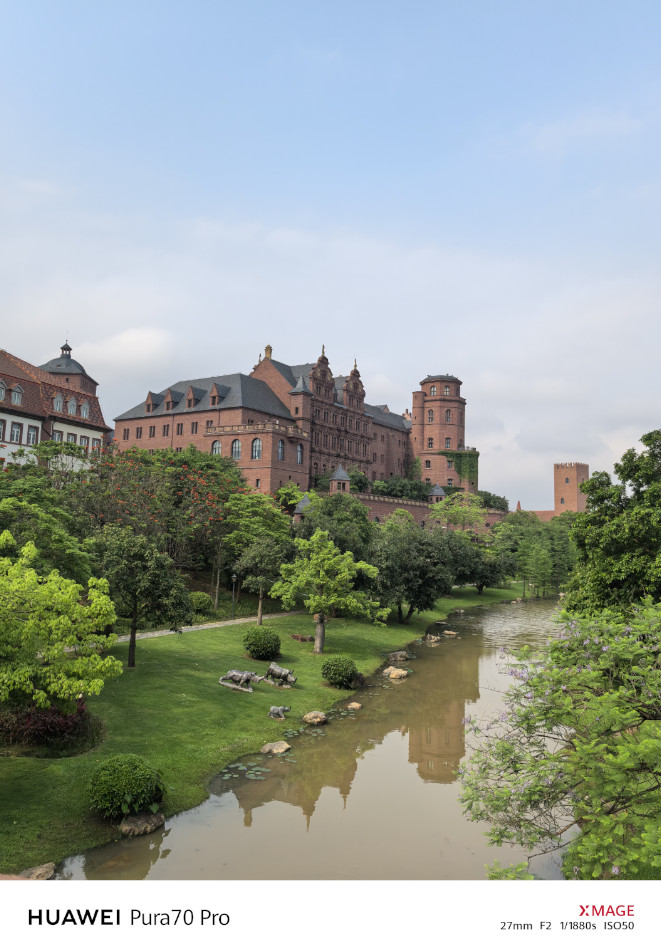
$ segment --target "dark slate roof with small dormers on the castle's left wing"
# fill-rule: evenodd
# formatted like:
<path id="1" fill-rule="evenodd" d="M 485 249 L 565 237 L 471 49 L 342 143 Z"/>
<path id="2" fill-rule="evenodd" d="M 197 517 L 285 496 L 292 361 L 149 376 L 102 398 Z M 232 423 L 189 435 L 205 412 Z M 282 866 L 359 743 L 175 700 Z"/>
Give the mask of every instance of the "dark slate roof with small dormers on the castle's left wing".
<path id="1" fill-rule="evenodd" d="M 211 405 L 209 396 L 211 387 L 216 384 L 220 394 L 220 401 L 215 406 Z M 186 406 L 186 394 L 189 387 L 193 391 L 202 394 L 195 406 L 190 409 Z M 170 391 L 174 394 L 181 394 L 179 402 L 172 410 L 165 410 L 165 394 Z M 252 376 L 246 376 L 243 373 L 229 373 L 226 376 L 211 376 L 201 380 L 179 380 L 172 386 L 166 387 L 158 394 L 154 395 L 154 403 L 158 404 L 153 413 L 145 412 L 145 404 L 138 403 L 133 409 L 126 410 L 116 420 L 123 419 L 142 419 L 145 416 L 170 416 L 172 413 L 195 413 L 200 410 L 217 409 L 254 409 L 261 413 L 268 413 L 271 416 L 280 416 L 283 419 L 291 419 L 291 413 L 282 403 L 275 393 L 262 380 L 256 380 Z"/>

